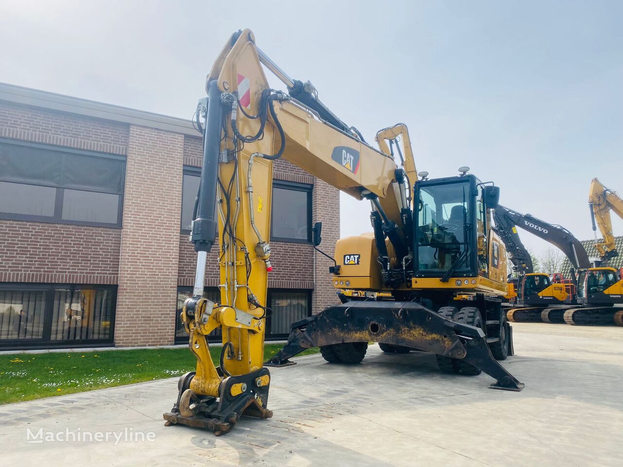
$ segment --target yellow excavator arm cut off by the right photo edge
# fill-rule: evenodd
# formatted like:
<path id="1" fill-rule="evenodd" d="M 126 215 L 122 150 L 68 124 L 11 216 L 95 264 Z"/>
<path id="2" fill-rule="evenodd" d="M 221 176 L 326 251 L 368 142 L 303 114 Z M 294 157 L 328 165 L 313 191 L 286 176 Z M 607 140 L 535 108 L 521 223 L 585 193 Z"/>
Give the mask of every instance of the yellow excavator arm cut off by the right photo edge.
<path id="1" fill-rule="evenodd" d="M 616 191 L 604 187 L 597 178 L 594 178 L 591 181 L 588 202 L 591 209 L 592 230 L 595 232 L 595 247 L 599 256 L 602 260 L 619 256 L 614 244 L 610 211 L 623 219 L 623 199 Z M 601 241 L 597 239 L 597 226 L 603 237 Z"/>

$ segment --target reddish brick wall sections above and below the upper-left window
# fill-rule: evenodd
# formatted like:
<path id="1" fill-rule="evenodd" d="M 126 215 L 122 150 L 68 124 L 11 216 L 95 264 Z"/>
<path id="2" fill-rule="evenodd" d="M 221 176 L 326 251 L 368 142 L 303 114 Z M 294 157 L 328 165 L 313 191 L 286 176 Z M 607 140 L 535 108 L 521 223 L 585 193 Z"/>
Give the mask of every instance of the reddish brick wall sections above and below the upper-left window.
<path id="1" fill-rule="evenodd" d="M 0 138 L 125 154 L 128 125 L 0 101 Z M 116 284 L 121 230 L 0 220 L 0 281 Z"/>

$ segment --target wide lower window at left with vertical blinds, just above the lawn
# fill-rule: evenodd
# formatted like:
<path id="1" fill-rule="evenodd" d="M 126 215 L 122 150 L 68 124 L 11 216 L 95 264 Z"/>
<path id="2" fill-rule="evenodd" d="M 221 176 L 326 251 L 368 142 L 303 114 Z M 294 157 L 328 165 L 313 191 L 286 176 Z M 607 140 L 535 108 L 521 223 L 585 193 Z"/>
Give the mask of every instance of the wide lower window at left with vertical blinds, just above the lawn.
<path id="1" fill-rule="evenodd" d="M 0 347 L 113 342 L 116 286 L 0 284 Z"/>

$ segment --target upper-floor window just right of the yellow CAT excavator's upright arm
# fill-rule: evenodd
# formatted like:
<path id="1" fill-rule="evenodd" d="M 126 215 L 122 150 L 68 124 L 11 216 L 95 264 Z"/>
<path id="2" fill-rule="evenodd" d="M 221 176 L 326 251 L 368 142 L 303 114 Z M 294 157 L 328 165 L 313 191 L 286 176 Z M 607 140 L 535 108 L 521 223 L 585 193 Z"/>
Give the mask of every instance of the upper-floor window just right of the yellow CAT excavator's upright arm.
<path id="1" fill-rule="evenodd" d="M 282 242 L 312 241 L 312 185 L 273 182 L 270 238 Z"/>

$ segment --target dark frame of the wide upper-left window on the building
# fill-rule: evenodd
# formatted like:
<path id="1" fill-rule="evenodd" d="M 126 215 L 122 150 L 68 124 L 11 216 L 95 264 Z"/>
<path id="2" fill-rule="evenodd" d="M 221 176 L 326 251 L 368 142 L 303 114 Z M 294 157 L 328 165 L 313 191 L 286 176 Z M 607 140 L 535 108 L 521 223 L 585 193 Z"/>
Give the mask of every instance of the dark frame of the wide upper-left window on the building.
<path id="1" fill-rule="evenodd" d="M 31 148 L 39 148 L 45 149 L 49 151 L 59 151 L 62 153 L 74 153 L 81 154 L 84 156 L 92 156 L 97 158 L 105 158 L 105 159 L 116 159 L 118 161 L 123 161 L 123 187 L 121 189 L 121 193 L 110 193 L 105 191 L 97 191 L 97 190 L 89 190 L 83 188 L 67 188 L 68 190 L 74 191 L 88 191 L 94 193 L 105 193 L 105 194 L 114 194 L 119 197 L 119 202 L 117 205 L 117 222 L 90 222 L 87 220 L 67 220 L 62 219 L 63 214 L 63 203 L 64 203 L 64 187 L 50 186 L 44 185 L 40 183 L 30 183 L 30 182 L 12 182 L 2 180 L 2 182 L 6 183 L 15 183 L 20 185 L 29 185 L 29 186 L 40 186 L 40 187 L 49 187 L 55 189 L 55 200 L 54 200 L 54 215 L 46 216 L 46 215 L 31 215 L 31 214 L 15 214 L 11 212 L 1 212 L 0 211 L 0 219 L 6 220 L 24 220 L 30 222 L 44 222 L 47 224 L 68 224 L 68 225 L 90 225 L 92 227 L 112 227 L 112 228 L 121 228 L 123 222 L 123 199 L 125 197 L 125 176 L 126 176 L 126 165 L 127 159 L 125 156 L 120 156 L 118 154 L 109 154 L 109 153 L 95 153 L 93 151 L 83 151 L 82 149 L 73 149 L 73 148 L 65 148 L 64 146 L 52 146 L 50 144 L 37 144 L 31 143 L 29 141 L 17 141 L 15 139 L 7 139 L 0 138 L 0 143 L 6 144 L 14 144 L 16 146 L 28 146 Z"/>

